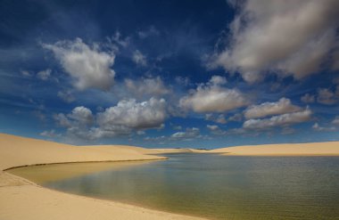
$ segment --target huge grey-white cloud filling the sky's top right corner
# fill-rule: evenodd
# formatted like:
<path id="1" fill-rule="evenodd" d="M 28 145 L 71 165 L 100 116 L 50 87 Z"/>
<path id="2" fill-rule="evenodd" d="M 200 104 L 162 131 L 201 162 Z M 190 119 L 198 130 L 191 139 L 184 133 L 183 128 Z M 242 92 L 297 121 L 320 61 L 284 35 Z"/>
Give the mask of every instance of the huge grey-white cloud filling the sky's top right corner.
<path id="1" fill-rule="evenodd" d="M 238 71 L 249 83 L 260 81 L 266 71 L 301 79 L 318 72 L 335 48 L 336 0 L 254 0 L 236 6 L 240 10 L 229 26 L 230 43 L 211 56 L 209 68 Z"/>

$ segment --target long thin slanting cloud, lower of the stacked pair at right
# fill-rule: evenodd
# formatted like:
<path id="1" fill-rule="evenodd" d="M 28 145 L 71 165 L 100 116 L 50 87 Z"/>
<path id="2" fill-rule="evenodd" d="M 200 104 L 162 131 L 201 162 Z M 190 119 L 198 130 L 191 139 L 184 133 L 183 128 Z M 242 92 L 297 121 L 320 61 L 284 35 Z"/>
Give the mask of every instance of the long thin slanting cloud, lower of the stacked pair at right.
<path id="1" fill-rule="evenodd" d="M 286 113 L 271 118 L 249 119 L 244 121 L 244 129 L 267 129 L 274 126 L 289 126 L 297 123 L 309 121 L 312 111 L 305 109 L 302 111 Z"/>

